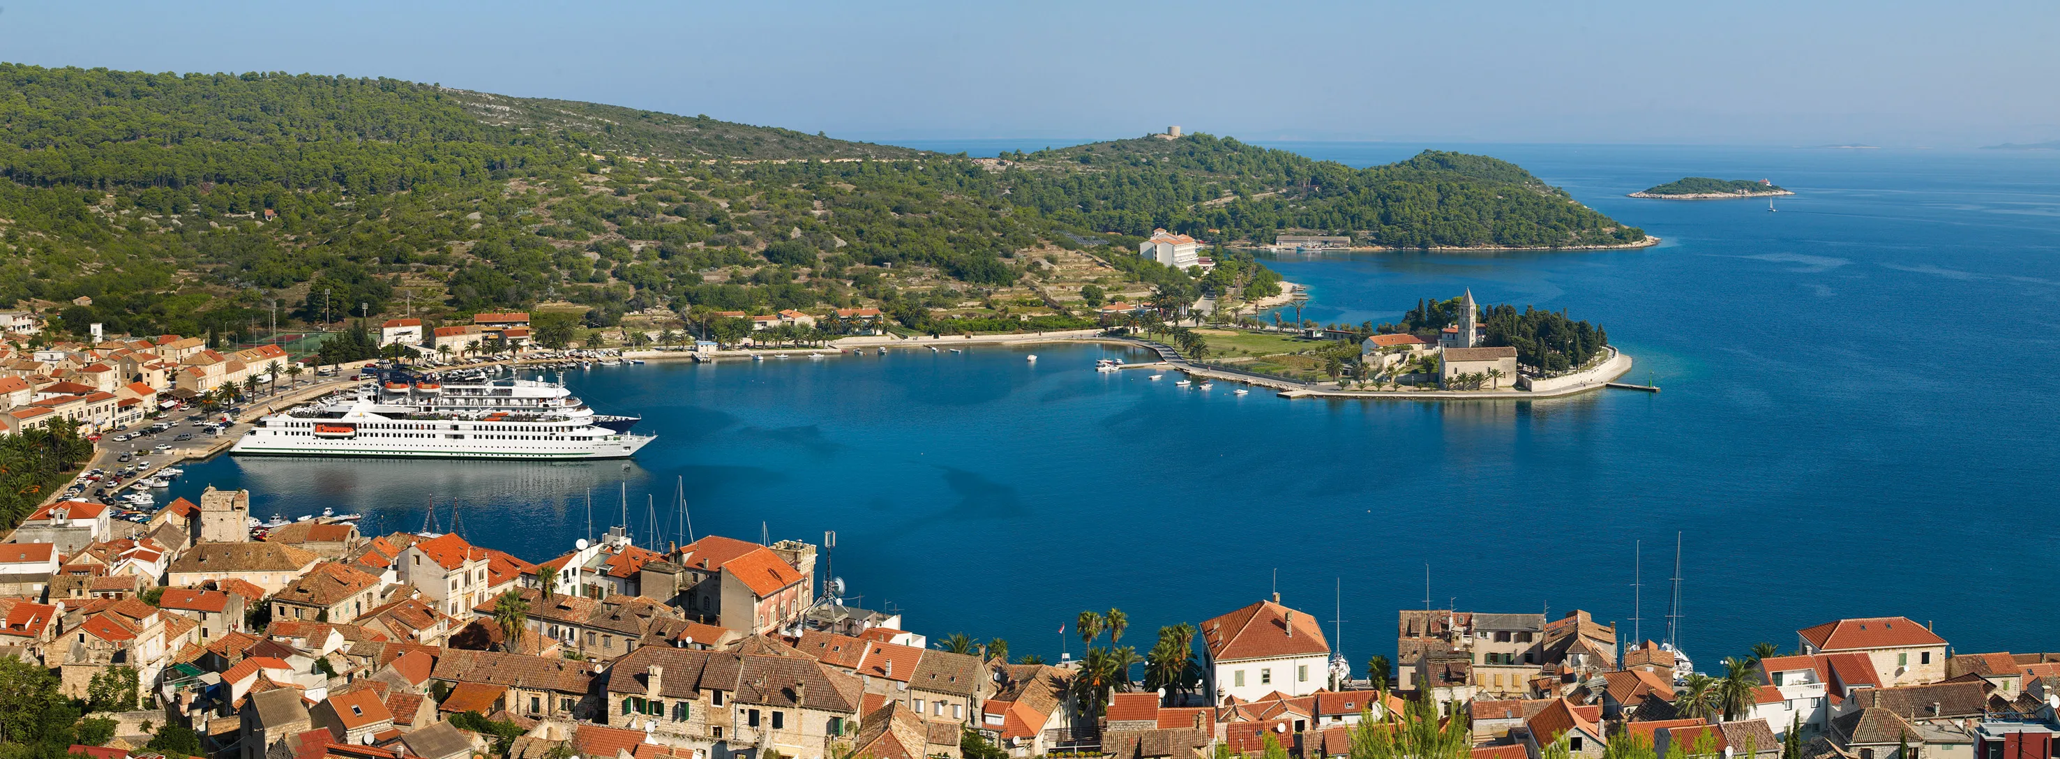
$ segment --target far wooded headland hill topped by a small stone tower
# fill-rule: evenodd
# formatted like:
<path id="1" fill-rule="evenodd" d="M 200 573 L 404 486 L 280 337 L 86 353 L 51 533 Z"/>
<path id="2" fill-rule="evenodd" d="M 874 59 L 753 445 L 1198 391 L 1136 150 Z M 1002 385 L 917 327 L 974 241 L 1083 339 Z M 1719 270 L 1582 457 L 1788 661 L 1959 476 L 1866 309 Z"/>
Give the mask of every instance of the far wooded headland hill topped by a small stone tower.
<path id="1" fill-rule="evenodd" d="M 1232 138 L 1096 142 L 1005 155 L 1011 200 L 1094 229 L 1152 225 L 1205 239 L 1271 243 L 1283 231 L 1390 248 L 1572 248 L 1646 239 L 1522 167 L 1479 155 L 1421 155 L 1351 169 Z"/>

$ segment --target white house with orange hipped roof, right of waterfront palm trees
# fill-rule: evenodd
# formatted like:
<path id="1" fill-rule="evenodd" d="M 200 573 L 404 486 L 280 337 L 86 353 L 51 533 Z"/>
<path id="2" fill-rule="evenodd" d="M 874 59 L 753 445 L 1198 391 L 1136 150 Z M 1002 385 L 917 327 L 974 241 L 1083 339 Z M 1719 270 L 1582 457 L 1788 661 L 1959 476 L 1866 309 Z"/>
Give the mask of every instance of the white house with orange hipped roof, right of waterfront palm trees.
<path id="1" fill-rule="evenodd" d="M 1257 701 L 1279 691 L 1310 695 L 1329 683 L 1331 644 L 1310 615 L 1273 600 L 1201 623 L 1203 687 L 1215 703 L 1224 697 Z"/>

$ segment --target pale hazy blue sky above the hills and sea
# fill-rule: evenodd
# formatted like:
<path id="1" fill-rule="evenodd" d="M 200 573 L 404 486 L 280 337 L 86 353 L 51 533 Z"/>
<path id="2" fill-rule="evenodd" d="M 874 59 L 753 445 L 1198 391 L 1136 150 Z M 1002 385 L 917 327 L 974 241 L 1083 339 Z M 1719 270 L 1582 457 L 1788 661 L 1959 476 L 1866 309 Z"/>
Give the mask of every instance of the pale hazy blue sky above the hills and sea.
<path id="1" fill-rule="evenodd" d="M 859 140 L 2060 140 L 2060 2 L 0 0 L 0 60 L 393 76 Z"/>

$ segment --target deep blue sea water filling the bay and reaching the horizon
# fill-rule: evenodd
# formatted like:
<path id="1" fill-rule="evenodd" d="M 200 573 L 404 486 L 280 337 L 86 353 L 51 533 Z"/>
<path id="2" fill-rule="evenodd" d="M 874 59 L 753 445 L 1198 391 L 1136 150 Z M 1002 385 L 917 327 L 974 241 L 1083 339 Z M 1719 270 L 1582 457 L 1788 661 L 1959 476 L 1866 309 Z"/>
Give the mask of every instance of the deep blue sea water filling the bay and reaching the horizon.
<path id="1" fill-rule="evenodd" d="M 956 142 L 954 142 L 956 144 Z M 919 144 L 927 146 L 927 144 Z M 991 142 L 985 151 L 1016 148 Z M 1030 148 L 1042 144 L 1026 144 Z M 1423 144 L 1279 144 L 1351 165 Z M 1516 161 L 1664 237 L 1627 252 L 1277 258 L 1318 322 L 1395 320 L 1473 289 L 1603 324 L 1660 394 L 1325 402 L 1096 373 L 1102 346 L 896 351 L 571 377 L 659 433 L 634 462 L 231 460 L 175 493 L 249 487 L 260 516 L 365 512 L 544 559 L 593 526 L 820 540 L 855 600 L 931 635 L 1057 654 L 1082 608 L 1129 639 L 1279 590 L 1393 654 L 1397 608 L 1586 608 L 1704 666 L 1854 615 L 1934 621 L 1961 652 L 2052 650 L 2060 157 L 2000 151 L 1448 146 Z M 956 151 L 983 153 L 960 144 Z M 1772 177 L 1776 200 L 1625 192 Z M 1036 353 L 1038 361 L 1024 359 Z M 1430 588 L 1426 590 L 1426 567 Z M 1341 610 L 1333 613 L 1333 590 Z M 2013 608 L 2015 613 L 2002 613 Z M 1077 639 L 1071 644 L 1077 652 Z"/>

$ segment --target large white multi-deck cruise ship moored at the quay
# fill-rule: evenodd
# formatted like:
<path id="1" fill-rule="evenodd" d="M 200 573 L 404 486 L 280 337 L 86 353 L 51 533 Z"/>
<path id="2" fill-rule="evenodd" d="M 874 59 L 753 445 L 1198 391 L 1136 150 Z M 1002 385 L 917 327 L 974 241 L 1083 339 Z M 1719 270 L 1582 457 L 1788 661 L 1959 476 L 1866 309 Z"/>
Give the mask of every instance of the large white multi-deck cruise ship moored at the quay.
<path id="1" fill-rule="evenodd" d="M 253 456 L 628 458 L 655 439 L 542 380 L 385 373 L 354 398 L 270 415 L 229 450 Z"/>

